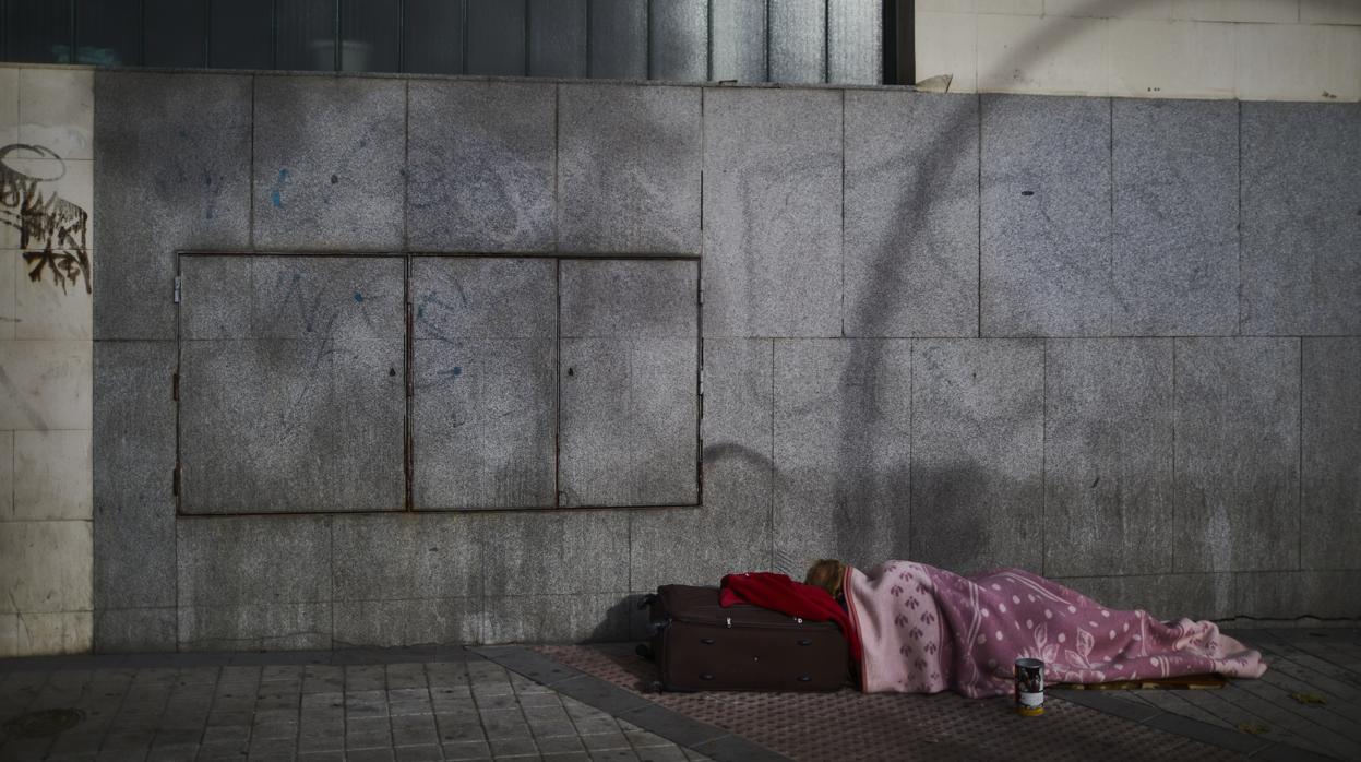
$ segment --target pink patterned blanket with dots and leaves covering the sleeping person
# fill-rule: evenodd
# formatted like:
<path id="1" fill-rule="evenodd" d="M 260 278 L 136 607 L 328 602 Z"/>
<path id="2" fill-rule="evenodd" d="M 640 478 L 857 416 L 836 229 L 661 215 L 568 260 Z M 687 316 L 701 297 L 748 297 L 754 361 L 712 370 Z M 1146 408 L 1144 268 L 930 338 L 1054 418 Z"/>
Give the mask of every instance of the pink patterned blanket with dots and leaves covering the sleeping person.
<path id="1" fill-rule="evenodd" d="M 966 578 L 890 561 L 870 574 L 848 567 L 845 593 L 864 648 L 866 693 L 1009 694 L 1018 657 L 1044 660 L 1049 683 L 1258 678 L 1267 668 L 1213 622 L 1111 610 L 1019 569 Z"/>

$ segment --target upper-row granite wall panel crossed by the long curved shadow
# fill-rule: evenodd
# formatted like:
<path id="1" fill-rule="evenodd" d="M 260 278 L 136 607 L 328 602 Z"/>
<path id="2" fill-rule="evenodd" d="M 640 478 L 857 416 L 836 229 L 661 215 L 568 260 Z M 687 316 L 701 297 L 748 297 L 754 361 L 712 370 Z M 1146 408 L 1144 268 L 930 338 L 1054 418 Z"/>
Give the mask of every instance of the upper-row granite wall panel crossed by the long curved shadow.
<path id="1" fill-rule="evenodd" d="M 845 333 L 977 336 L 979 99 L 849 91 L 845 120 Z"/>

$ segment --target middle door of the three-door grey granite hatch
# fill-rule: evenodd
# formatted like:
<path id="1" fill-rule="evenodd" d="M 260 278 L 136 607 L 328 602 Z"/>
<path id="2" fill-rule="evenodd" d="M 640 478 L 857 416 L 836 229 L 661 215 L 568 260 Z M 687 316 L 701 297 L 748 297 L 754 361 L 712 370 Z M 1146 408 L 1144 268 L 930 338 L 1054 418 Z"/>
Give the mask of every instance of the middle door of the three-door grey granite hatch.
<path id="1" fill-rule="evenodd" d="M 555 503 L 557 271 L 548 259 L 411 263 L 416 509 Z"/>

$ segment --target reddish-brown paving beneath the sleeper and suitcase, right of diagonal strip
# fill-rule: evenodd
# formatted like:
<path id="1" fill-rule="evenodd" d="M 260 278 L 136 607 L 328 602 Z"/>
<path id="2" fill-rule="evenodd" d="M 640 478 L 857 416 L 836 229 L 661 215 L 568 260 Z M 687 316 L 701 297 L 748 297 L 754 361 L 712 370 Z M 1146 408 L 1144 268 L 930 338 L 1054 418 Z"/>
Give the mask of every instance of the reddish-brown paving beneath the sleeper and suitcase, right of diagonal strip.
<path id="1" fill-rule="evenodd" d="M 792 759 L 1139 759 L 1176 754 L 1361 761 L 1361 630 L 1256 629 L 1232 634 L 1263 652 L 1270 665 L 1263 679 L 1195 691 L 1051 690 L 1048 713 L 1038 721 L 1015 717 L 1009 699 L 950 694 L 863 695 L 849 689 L 834 694 L 655 693 L 655 669 L 623 645 L 539 650 Z"/>

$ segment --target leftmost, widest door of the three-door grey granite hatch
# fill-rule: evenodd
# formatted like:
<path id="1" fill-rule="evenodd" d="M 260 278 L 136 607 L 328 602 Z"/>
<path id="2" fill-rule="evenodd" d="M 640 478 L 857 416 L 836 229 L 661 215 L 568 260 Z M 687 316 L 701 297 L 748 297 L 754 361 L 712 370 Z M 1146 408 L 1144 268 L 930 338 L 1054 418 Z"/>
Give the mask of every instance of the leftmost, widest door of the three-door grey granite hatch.
<path id="1" fill-rule="evenodd" d="M 189 325 L 200 303 L 249 317 L 222 318 L 244 335 L 181 342 L 180 510 L 401 509 L 401 260 L 253 257 L 250 271 L 245 299 L 184 295 Z"/>

